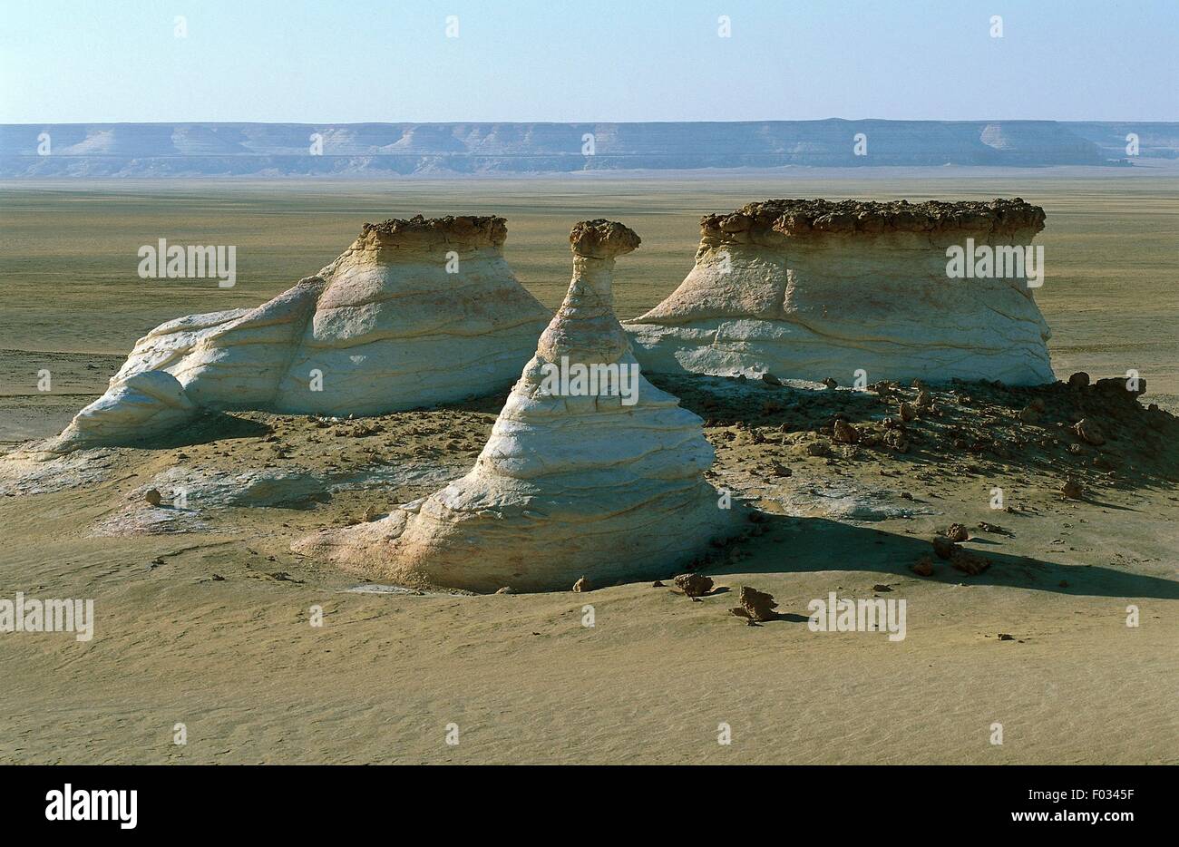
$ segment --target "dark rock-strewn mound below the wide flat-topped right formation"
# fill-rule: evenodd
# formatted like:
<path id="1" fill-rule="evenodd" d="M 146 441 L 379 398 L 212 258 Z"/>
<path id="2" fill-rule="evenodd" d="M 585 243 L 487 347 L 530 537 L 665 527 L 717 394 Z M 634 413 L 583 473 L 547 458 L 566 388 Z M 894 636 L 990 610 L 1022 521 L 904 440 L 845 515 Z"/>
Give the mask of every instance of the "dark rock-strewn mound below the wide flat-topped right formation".
<path id="1" fill-rule="evenodd" d="M 1020 508 L 1013 491 L 1101 499 L 1114 488 L 1179 482 L 1179 420 L 1142 402 L 1142 379 L 946 387 L 881 381 L 865 390 L 746 377 L 652 379 L 705 418 L 727 487 L 797 513 L 811 513 L 805 504 L 825 504 L 839 518 L 877 519 L 902 505 L 928 513 L 936 510 L 931 494 L 946 486 L 974 485 L 986 503 L 1005 477 L 1022 480 L 1007 492 L 1008 511 Z M 859 479 L 865 473 L 871 477 Z M 887 492 L 890 498 L 877 501 Z M 855 513 L 839 511 L 843 494 L 858 503 Z"/>

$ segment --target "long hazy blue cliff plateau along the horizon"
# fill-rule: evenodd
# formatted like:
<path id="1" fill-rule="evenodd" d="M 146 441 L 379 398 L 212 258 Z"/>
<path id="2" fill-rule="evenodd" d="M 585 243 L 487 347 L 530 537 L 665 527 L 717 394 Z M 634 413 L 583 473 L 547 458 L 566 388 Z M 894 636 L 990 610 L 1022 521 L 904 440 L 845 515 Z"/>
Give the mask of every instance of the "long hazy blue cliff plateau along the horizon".
<path id="1" fill-rule="evenodd" d="M 1148 122 L 7 124 L 0 178 L 1126 165 L 1129 133 L 1179 158 L 1179 123 Z"/>

